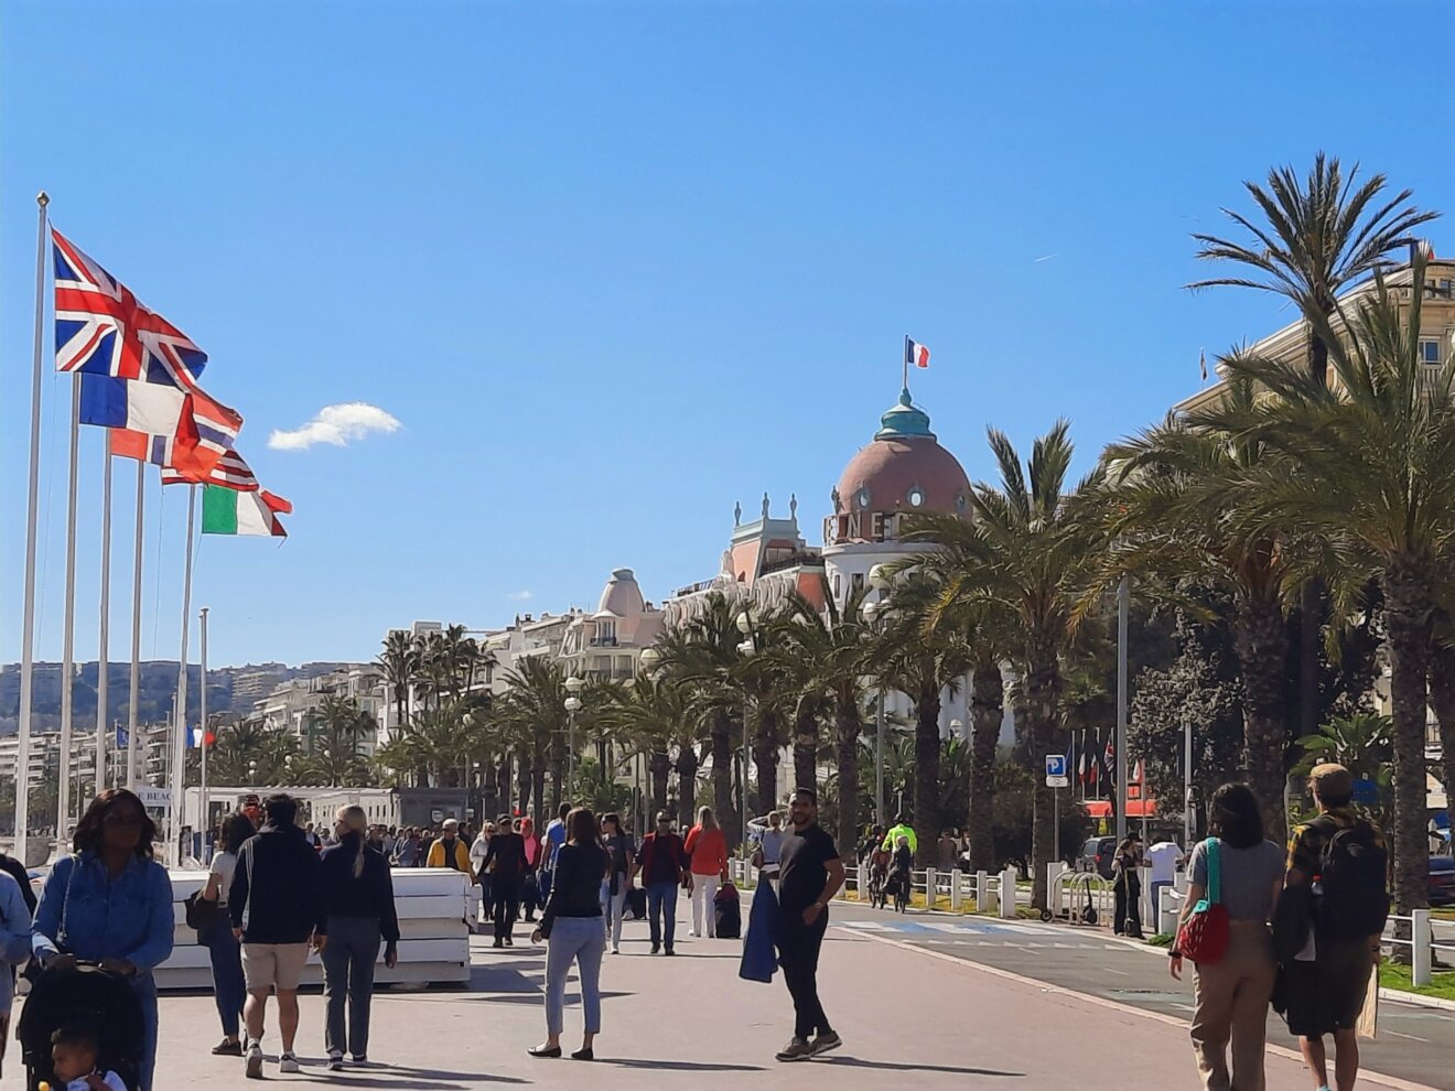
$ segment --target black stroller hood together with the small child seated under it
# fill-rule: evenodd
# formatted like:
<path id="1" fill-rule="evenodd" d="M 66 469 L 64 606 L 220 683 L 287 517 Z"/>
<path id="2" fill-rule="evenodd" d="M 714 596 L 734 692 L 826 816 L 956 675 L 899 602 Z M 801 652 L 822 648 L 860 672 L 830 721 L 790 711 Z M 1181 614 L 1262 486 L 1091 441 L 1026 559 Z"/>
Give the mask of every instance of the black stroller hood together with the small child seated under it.
<path id="1" fill-rule="evenodd" d="M 48 969 L 35 980 L 16 1027 L 26 1091 L 42 1082 L 52 1091 L 134 1091 L 144 1036 L 141 1001 L 125 978 L 84 962 Z M 93 1074 L 100 1082 L 86 1082 Z"/>

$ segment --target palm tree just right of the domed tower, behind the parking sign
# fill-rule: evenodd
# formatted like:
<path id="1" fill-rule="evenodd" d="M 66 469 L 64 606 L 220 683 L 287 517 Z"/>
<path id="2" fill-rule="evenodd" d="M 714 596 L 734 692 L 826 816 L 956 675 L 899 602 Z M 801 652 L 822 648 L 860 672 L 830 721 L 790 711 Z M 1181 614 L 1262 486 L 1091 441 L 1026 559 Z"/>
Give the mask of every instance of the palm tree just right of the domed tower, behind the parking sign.
<path id="1" fill-rule="evenodd" d="M 1067 490 L 1074 448 L 1065 420 L 1039 438 L 1027 467 L 1010 439 L 989 431 L 1000 483 L 976 483 L 972 519 L 925 515 L 906 535 L 936 546 L 917 567 L 940 586 L 936 612 L 985 607 L 1014 620 L 1017 687 L 1024 697 L 1026 738 L 1037 755 L 1064 754 L 1061 656 L 1078 624 L 1078 605 L 1104 551 L 1099 528 L 1078 499 L 1097 489 L 1097 467 Z M 1046 864 L 1056 831 L 1051 788 L 1037 780 L 1032 794 L 1032 900 L 1046 908 Z"/>

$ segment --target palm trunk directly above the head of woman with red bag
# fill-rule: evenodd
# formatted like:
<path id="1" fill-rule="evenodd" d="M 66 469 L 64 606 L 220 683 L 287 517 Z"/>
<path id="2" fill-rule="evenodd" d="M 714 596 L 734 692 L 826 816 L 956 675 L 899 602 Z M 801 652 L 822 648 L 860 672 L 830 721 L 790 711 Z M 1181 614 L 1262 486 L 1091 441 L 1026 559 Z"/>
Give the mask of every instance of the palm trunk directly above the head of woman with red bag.
<path id="1" fill-rule="evenodd" d="M 1277 601 L 1254 598 L 1238 604 L 1232 618 L 1232 650 L 1243 675 L 1243 768 L 1263 807 L 1264 832 L 1282 844 L 1288 836 L 1283 809 L 1289 743 L 1283 700 L 1288 628 Z"/>

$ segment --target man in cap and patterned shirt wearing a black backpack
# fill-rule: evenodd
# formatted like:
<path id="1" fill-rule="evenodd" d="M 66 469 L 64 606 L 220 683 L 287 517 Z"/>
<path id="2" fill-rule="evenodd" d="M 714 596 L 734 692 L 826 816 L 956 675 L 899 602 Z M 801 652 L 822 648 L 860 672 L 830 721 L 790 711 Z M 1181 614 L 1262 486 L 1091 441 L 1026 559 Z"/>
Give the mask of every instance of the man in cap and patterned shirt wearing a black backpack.
<path id="1" fill-rule="evenodd" d="M 1359 1012 L 1390 916 L 1390 854 L 1378 828 L 1350 806 L 1349 770 L 1317 765 L 1308 781 L 1318 818 L 1293 831 L 1283 896 L 1308 900 L 1312 927 L 1304 948 L 1285 964 L 1288 1028 L 1298 1036 L 1320 1091 L 1349 1091 L 1359 1075 Z M 1334 1036 L 1334 1084 L 1324 1034 Z"/>

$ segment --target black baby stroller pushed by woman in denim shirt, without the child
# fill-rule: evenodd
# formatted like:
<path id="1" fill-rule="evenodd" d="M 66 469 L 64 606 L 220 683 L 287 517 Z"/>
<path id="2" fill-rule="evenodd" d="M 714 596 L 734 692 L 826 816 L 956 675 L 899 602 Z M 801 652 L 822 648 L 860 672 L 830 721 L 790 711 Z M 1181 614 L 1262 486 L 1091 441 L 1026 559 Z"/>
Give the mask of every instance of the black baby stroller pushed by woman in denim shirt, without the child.
<path id="1" fill-rule="evenodd" d="M 102 1072 L 113 1071 L 128 1088 L 135 1088 L 144 1034 L 141 1001 L 125 978 L 83 962 L 74 970 L 41 972 L 20 1008 L 16 1037 L 25 1062 L 26 1091 L 35 1091 L 42 1079 L 55 1085 L 51 1034 L 77 1023 L 96 1031 L 96 1066 Z"/>

